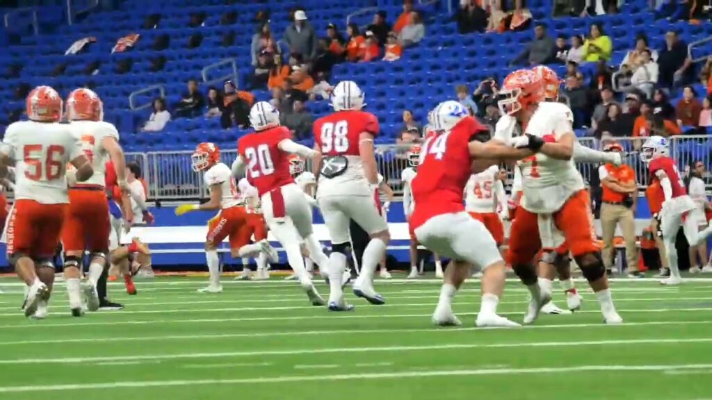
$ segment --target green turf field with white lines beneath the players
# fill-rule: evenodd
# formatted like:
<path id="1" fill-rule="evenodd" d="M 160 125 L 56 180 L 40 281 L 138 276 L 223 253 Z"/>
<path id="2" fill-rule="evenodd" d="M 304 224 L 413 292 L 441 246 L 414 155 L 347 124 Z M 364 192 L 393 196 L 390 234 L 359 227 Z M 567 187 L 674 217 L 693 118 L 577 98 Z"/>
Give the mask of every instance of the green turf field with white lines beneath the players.
<path id="1" fill-rule="evenodd" d="M 614 283 L 624 325 L 603 325 L 582 290 L 583 312 L 515 330 L 473 328 L 476 283 L 456 299 L 464 326 L 437 329 L 434 280 L 379 280 L 387 305 L 349 295 L 355 312 L 330 313 L 296 283 L 230 279 L 218 295 L 195 293 L 197 278 L 140 282 L 131 298 L 112 285 L 126 310 L 83 318 L 60 284 L 43 321 L 0 295 L 0 399 L 712 399 L 712 279 Z M 512 282 L 500 310 L 520 321 L 526 302 Z"/>

